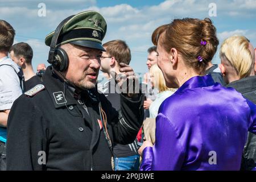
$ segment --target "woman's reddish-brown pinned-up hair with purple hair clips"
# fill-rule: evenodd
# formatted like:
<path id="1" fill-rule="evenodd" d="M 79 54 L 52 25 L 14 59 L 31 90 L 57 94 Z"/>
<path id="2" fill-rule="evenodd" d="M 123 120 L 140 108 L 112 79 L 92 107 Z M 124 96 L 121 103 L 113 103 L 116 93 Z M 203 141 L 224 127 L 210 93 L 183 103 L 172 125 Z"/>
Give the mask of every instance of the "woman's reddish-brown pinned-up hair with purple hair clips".
<path id="1" fill-rule="evenodd" d="M 172 23 L 164 24 L 153 32 L 152 42 L 157 45 L 158 41 L 167 52 L 176 48 L 185 64 L 200 73 L 205 72 L 218 47 L 216 28 L 209 18 L 174 19 Z M 201 41 L 207 44 L 203 46 Z M 197 56 L 203 57 L 203 61 L 197 60 Z"/>

